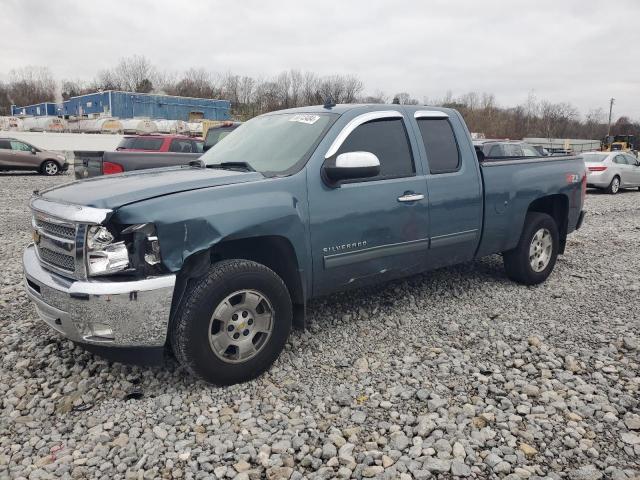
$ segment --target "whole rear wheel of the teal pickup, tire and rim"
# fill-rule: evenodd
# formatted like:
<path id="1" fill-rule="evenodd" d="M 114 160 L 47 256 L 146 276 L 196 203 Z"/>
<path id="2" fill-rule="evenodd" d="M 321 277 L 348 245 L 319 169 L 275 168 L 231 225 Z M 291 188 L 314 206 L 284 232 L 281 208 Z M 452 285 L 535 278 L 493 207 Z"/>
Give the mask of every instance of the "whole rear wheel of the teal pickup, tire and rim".
<path id="1" fill-rule="evenodd" d="M 544 282 L 556 264 L 558 237 L 558 227 L 551 216 L 527 213 L 518 245 L 503 254 L 507 276 L 525 285 Z"/>

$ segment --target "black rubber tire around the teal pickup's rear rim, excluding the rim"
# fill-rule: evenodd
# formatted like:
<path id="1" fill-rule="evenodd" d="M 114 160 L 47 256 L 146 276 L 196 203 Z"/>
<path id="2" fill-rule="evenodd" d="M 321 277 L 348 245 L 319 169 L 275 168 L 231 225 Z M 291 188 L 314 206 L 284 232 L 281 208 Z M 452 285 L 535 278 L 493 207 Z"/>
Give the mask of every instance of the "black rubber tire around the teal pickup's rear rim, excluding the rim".
<path id="1" fill-rule="evenodd" d="M 541 229 L 546 229 L 551 236 L 551 255 L 546 267 L 541 271 L 535 271 L 529 258 L 529 249 L 534 236 Z M 513 250 L 503 253 L 507 276 L 524 285 L 537 285 L 544 282 L 556 264 L 559 244 L 558 226 L 551 216 L 539 212 L 527 213 L 518 245 Z"/>

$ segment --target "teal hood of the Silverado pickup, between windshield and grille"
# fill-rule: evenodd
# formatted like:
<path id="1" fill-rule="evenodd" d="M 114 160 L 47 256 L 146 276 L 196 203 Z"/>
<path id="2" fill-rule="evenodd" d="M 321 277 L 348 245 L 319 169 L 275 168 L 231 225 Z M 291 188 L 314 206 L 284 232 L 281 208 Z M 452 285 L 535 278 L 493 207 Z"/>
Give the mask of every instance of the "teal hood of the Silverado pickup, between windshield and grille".
<path id="1" fill-rule="evenodd" d="M 156 168 L 67 183 L 44 191 L 42 196 L 53 202 L 114 209 L 171 193 L 263 178 L 258 172 L 184 166 Z"/>

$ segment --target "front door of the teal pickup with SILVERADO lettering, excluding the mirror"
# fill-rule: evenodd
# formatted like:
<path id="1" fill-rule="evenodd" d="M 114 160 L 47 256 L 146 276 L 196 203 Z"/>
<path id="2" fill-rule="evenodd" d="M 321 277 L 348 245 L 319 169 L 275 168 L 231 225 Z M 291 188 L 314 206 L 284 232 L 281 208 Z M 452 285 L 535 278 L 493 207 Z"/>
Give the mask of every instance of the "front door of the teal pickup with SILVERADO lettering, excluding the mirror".
<path id="1" fill-rule="evenodd" d="M 308 173 L 316 295 L 426 267 L 427 185 L 408 128 L 397 111 L 359 115 L 336 132 L 339 147 L 322 152 L 330 155 L 324 162 L 335 164 L 342 153 L 370 152 L 380 161 L 380 174 L 331 188 L 320 171 Z"/>

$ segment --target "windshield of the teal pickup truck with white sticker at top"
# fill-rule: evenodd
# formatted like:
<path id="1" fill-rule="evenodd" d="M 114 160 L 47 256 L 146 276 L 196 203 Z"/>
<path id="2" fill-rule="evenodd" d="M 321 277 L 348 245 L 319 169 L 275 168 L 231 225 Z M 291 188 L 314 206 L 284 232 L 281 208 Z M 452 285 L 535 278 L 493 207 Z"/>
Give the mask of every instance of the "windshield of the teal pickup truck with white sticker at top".
<path id="1" fill-rule="evenodd" d="M 282 113 L 253 118 L 208 150 L 207 165 L 246 162 L 263 174 L 291 173 L 307 160 L 337 115 Z"/>

